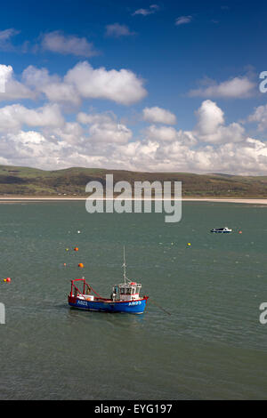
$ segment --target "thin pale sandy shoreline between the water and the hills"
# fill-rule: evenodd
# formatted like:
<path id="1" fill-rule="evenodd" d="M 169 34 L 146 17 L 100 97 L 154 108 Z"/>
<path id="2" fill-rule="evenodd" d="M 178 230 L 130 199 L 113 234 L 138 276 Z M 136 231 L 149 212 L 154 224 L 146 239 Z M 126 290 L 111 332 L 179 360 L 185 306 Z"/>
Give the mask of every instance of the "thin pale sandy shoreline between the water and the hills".
<path id="1" fill-rule="evenodd" d="M 20 202 L 68 202 L 68 201 L 85 201 L 88 197 L 0 197 L 0 203 L 20 203 Z M 116 197 L 114 197 L 116 198 Z M 93 198 L 94 200 L 94 198 Z M 106 199 L 104 200 L 112 200 Z M 130 200 L 130 199 L 125 199 Z M 133 199 L 134 200 L 134 199 Z M 148 199 L 142 199 L 148 200 Z M 149 199 L 150 200 L 150 199 Z M 152 198 L 152 200 L 155 200 Z M 159 200 L 159 199 L 156 199 Z M 267 205 L 267 198 L 239 198 L 239 197 L 182 197 L 182 202 L 213 202 L 213 203 L 239 203 L 248 205 Z"/>

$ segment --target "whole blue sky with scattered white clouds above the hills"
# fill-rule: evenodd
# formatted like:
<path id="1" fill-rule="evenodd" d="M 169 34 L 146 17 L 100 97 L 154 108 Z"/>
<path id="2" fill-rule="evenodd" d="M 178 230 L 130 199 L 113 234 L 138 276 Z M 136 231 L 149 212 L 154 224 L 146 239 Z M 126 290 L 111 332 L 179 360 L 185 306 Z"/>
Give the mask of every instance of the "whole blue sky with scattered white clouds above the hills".
<path id="1" fill-rule="evenodd" d="M 258 0 L 5 2 L 0 164 L 267 175 L 266 32 Z"/>

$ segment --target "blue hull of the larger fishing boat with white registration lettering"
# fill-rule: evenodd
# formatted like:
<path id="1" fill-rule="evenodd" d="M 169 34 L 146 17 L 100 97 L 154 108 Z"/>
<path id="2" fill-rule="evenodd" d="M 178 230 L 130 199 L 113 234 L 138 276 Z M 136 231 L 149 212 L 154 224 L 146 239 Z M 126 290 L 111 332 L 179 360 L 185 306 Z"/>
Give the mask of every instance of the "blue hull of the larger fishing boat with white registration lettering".
<path id="1" fill-rule="evenodd" d="M 69 306 L 84 310 L 98 310 L 101 312 L 125 312 L 142 314 L 148 298 L 138 301 L 85 301 L 83 299 L 69 297 Z"/>

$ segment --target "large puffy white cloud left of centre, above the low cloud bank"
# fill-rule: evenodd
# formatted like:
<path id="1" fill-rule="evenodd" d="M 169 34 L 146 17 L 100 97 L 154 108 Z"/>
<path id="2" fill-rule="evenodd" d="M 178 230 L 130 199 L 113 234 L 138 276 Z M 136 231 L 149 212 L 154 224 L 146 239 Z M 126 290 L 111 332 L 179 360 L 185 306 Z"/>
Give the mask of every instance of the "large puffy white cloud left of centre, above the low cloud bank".
<path id="1" fill-rule="evenodd" d="M 50 76 L 46 68 L 29 66 L 22 79 L 48 100 L 80 104 L 83 99 L 113 100 L 130 105 L 142 100 L 147 92 L 143 80 L 129 69 L 93 68 L 87 61 L 69 69 L 66 76 Z"/>

